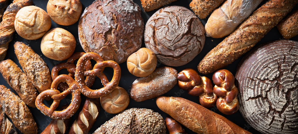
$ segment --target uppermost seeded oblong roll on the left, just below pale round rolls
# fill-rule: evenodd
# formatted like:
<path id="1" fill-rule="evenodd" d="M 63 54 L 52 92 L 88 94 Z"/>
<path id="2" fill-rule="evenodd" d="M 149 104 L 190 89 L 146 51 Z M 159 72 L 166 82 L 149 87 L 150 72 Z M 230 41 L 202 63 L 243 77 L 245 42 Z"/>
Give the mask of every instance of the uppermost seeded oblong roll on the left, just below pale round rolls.
<path id="1" fill-rule="evenodd" d="M 15 42 L 15 55 L 38 92 L 50 89 L 52 77 L 49 68 L 41 57 L 23 42 Z"/>

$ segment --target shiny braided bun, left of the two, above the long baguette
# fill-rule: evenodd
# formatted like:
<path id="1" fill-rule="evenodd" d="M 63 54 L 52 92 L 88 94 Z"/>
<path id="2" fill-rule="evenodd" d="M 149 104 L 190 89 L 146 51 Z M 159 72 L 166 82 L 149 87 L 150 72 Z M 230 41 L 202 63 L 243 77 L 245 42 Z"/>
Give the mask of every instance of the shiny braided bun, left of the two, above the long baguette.
<path id="1" fill-rule="evenodd" d="M 187 90 L 192 96 L 199 96 L 199 102 L 206 108 L 214 106 L 218 98 L 213 93 L 211 80 L 204 76 L 201 77 L 191 68 L 178 73 L 178 86 Z"/>

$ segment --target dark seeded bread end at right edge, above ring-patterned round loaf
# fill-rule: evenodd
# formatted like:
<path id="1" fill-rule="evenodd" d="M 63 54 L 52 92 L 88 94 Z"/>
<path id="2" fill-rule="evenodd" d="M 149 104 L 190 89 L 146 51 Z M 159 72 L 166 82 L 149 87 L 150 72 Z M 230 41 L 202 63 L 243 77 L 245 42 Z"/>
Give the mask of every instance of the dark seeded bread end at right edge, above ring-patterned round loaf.
<path id="1" fill-rule="evenodd" d="M 277 24 L 277 29 L 286 40 L 298 35 L 298 10 L 280 21 Z"/>

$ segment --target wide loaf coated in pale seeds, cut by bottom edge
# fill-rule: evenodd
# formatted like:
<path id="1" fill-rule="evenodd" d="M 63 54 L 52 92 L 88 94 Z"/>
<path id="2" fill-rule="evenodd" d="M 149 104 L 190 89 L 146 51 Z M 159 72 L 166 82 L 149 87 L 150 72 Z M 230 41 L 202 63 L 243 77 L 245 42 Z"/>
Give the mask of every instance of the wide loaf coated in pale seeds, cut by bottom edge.
<path id="1" fill-rule="evenodd" d="M 101 125 L 93 134 L 165 134 L 166 124 L 159 113 L 146 108 L 130 108 Z"/>

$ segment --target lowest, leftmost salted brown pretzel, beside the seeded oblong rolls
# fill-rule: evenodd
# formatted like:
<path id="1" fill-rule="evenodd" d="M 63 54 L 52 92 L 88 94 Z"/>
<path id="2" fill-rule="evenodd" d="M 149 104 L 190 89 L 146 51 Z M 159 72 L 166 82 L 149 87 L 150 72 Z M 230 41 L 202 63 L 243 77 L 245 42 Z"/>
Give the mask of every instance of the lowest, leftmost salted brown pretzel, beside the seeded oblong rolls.
<path id="1" fill-rule="evenodd" d="M 66 82 L 69 88 L 63 92 L 60 92 L 59 90 L 57 90 L 57 86 L 60 82 Z M 55 111 L 60 103 L 60 100 L 62 100 L 68 94 L 72 94 L 72 101 L 69 106 L 62 111 Z M 50 107 L 44 105 L 43 101 L 46 97 L 51 97 L 54 100 Z M 57 78 L 55 78 L 55 80 L 53 80 L 52 82 L 51 89 L 41 92 L 35 100 L 36 107 L 44 115 L 47 115 L 52 119 L 70 118 L 78 110 L 80 103 L 80 90 L 77 88 L 75 80 L 71 76 L 65 74 L 59 75 Z"/>

